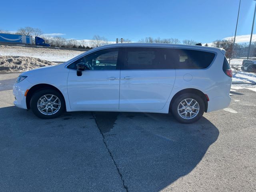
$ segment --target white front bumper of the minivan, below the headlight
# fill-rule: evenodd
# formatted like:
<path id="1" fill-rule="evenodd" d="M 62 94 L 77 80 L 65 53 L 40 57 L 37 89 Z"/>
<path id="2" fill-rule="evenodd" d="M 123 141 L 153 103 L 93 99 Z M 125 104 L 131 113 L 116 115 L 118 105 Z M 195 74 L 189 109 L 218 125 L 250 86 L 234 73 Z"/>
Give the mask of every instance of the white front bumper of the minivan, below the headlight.
<path id="1" fill-rule="evenodd" d="M 13 102 L 15 106 L 22 109 L 27 109 L 25 93 L 26 90 L 30 88 L 29 85 L 30 83 L 26 79 L 24 79 L 22 82 L 19 82 L 18 84 L 13 85 L 12 94 L 15 97 Z"/>

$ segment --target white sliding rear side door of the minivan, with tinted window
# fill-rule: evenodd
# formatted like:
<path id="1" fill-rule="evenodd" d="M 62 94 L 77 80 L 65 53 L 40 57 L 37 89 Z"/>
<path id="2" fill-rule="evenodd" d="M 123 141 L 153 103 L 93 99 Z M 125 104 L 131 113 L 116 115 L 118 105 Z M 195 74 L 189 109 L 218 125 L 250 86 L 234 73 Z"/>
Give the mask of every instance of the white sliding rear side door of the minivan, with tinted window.
<path id="1" fill-rule="evenodd" d="M 161 110 L 176 78 L 168 48 L 124 48 L 120 110 Z"/>

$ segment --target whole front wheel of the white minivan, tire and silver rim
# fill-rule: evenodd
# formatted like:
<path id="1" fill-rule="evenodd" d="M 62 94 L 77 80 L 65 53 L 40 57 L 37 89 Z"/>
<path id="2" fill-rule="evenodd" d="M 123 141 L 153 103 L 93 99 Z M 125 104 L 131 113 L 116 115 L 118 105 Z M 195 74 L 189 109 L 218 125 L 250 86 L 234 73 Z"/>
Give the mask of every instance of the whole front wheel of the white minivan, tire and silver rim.
<path id="1" fill-rule="evenodd" d="M 32 96 L 30 108 L 39 118 L 51 119 L 62 114 L 65 101 L 62 94 L 56 90 L 40 90 Z"/>

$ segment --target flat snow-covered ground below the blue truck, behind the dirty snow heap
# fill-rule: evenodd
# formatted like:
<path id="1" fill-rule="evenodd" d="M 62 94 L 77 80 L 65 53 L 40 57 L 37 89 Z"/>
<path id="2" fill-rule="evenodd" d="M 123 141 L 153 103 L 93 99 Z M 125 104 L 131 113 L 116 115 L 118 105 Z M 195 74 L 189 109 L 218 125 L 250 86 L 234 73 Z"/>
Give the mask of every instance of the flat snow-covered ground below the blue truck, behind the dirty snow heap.
<path id="1" fill-rule="evenodd" d="M 0 56 L 28 56 L 53 62 L 65 62 L 82 53 L 84 51 L 0 45 Z"/>

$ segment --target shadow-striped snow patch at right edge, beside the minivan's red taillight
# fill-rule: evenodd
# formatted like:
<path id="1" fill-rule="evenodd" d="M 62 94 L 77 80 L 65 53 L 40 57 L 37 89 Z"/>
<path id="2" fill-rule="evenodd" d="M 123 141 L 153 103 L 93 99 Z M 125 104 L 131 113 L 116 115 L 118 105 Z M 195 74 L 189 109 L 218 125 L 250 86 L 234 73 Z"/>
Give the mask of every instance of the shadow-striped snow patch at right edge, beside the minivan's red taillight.
<path id="1" fill-rule="evenodd" d="M 256 84 L 256 74 L 244 72 L 244 71 L 238 71 L 238 73 L 235 74 L 233 71 L 232 82 L 255 83 Z"/>

